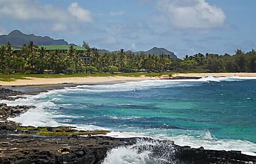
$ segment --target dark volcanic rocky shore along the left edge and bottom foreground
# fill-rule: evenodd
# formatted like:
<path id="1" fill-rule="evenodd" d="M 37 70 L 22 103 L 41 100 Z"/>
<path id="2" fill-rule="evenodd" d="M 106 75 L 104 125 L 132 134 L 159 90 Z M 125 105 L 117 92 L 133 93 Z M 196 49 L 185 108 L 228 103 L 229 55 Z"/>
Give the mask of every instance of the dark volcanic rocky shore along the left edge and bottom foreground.
<path id="1" fill-rule="evenodd" d="M 15 100 L 9 96 L 22 93 L 0 88 L 0 95 L 0 99 Z M 150 138 L 93 136 L 108 131 L 26 127 L 7 120 L 34 107 L 0 104 L 0 163 L 102 163 L 111 149 L 120 147 L 132 147 L 138 153 L 150 151 L 150 158 L 165 159 L 148 163 L 256 163 L 256 156 L 245 155 L 240 151 L 205 150 L 203 147 L 195 149 L 175 145 L 173 141 Z M 139 145 L 138 142 L 150 144 Z"/>

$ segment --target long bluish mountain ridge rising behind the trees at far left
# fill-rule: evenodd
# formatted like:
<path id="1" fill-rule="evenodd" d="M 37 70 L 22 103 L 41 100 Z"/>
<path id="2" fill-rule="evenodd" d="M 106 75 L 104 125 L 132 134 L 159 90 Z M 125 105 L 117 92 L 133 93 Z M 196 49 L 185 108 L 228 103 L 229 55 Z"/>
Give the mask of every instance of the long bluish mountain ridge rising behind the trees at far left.
<path id="1" fill-rule="evenodd" d="M 0 45 L 10 42 L 14 46 L 20 46 L 33 41 L 36 45 L 68 45 L 69 43 L 63 39 L 54 40 L 48 36 L 40 37 L 34 34 L 23 34 L 18 30 L 14 30 L 8 35 L 0 35 Z"/>

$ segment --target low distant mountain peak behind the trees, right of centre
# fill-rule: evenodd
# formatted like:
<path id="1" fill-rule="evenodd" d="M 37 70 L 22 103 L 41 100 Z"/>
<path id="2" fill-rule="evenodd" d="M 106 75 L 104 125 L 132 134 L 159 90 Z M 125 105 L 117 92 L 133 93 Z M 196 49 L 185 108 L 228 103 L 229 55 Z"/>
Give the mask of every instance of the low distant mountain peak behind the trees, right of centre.
<path id="1" fill-rule="evenodd" d="M 106 49 L 99 49 L 99 51 L 101 53 L 112 53 L 112 52 L 117 52 L 117 51 L 109 51 L 109 50 L 106 50 Z M 131 51 L 131 50 L 128 50 L 128 51 Z M 176 54 L 172 51 L 169 51 L 165 48 L 158 48 L 158 47 L 153 47 L 152 49 L 150 50 L 147 50 L 147 51 L 137 51 L 137 52 L 134 52 L 134 51 L 131 51 L 132 53 L 135 53 L 135 54 L 139 54 L 141 52 L 143 52 L 144 54 L 155 54 L 155 55 L 161 55 L 161 54 L 166 54 L 166 55 L 169 55 L 170 57 L 174 58 L 174 59 L 178 59 L 178 57 L 176 56 Z"/>

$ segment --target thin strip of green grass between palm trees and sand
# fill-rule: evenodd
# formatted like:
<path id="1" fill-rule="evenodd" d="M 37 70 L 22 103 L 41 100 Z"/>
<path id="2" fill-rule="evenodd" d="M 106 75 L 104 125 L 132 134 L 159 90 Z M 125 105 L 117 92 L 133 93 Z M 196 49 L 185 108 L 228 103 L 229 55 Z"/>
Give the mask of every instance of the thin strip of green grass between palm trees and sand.
<path id="1" fill-rule="evenodd" d="M 171 72 L 151 72 L 151 73 L 141 73 L 141 72 L 134 72 L 134 73 L 118 73 L 118 74 L 111 74 L 111 73 L 74 73 L 71 75 L 62 75 L 62 74 L 23 74 L 23 73 L 15 73 L 15 74 L 0 74 L 0 81 L 15 81 L 16 79 L 28 79 L 26 77 L 37 77 L 37 78 L 63 78 L 63 77 L 86 77 L 86 76 L 130 76 L 130 77 L 139 77 L 141 75 L 145 76 L 161 76 L 161 75 L 170 75 Z"/>

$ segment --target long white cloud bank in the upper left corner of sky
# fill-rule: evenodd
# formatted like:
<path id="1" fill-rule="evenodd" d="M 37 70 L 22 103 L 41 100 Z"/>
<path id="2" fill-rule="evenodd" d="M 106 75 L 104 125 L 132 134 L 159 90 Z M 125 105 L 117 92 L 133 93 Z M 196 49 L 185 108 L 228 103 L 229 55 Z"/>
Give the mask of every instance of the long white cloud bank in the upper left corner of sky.
<path id="1" fill-rule="evenodd" d="M 68 8 L 43 5 L 33 0 L 1 0 L 0 18 L 9 17 L 20 21 L 39 21 L 50 24 L 54 32 L 72 29 L 72 24 L 92 22 L 93 14 L 83 9 L 78 3 L 72 3 Z M 74 29 L 73 29 L 74 30 Z"/>

